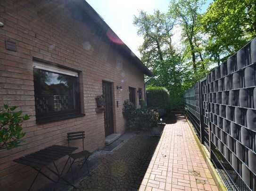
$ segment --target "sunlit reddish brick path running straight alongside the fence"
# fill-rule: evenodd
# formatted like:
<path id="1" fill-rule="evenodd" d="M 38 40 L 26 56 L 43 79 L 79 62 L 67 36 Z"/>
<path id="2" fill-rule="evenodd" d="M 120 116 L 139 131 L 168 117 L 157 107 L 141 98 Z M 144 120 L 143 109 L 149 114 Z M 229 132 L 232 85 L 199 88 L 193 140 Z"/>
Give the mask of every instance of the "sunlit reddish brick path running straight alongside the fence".
<path id="1" fill-rule="evenodd" d="M 165 126 L 139 191 L 218 191 L 184 116 Z"/>

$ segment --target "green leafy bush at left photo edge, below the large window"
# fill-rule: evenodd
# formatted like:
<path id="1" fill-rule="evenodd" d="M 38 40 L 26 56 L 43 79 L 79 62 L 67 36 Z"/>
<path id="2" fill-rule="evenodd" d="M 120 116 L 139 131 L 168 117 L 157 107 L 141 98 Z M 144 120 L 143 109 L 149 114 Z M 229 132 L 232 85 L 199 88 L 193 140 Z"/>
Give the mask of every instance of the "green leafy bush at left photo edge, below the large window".
<path id="1" fill-rule="evenodd" d="M 0 149 L 12 149 L 23 142 L 25 133 L 21 123 L 28 120 L 29 115 L 22 116 L 22 111 L 15 112 L 16 109 L 17 106 L 4 105 L 0 110 Z"/>

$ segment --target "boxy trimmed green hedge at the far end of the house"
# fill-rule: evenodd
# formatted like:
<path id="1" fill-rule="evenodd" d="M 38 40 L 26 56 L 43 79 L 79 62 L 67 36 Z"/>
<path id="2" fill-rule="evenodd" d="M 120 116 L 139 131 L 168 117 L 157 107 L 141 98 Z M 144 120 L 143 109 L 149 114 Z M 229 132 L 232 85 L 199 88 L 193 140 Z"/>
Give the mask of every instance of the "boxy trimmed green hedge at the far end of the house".
<path id="1" fill-rule="evenodd" d="M 170 94 L 165 87 L 149 86 L 147 92 L 147 107 L 168 109 L 170 106 Z"/>

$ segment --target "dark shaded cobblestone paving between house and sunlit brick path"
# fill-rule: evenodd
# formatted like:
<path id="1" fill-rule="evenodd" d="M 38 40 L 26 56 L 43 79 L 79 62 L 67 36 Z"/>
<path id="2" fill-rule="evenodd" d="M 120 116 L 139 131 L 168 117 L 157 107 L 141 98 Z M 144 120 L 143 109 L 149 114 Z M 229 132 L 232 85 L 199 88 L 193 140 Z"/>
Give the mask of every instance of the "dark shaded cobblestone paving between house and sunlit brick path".
<path id="1" fill-rule="evenodd" d="M 79 183 L 81 191 L 137 191 L 159 138 L 137 135 L 111 154 L 99 155 L 99 166 Z"/>

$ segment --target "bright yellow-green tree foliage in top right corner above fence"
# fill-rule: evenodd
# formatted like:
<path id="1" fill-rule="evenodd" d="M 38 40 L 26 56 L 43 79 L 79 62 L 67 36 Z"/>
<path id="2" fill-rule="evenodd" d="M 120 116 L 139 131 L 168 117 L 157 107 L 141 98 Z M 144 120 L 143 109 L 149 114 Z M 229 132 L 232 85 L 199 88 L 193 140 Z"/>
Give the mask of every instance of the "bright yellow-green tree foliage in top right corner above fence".
<path id="1" fill-rule="evenodd" d="M 206 52 L 220 64 L 256 36 L 256 1 L 215 0 L 200 23 Z"/>

